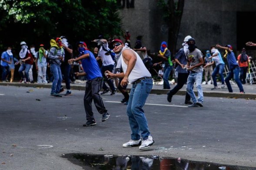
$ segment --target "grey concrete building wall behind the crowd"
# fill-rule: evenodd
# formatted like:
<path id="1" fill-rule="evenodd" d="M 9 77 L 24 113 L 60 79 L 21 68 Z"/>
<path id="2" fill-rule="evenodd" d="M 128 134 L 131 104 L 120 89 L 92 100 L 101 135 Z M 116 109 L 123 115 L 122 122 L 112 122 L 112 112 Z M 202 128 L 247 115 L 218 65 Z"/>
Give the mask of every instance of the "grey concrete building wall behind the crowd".
<path id="1" fill-rule="evenodd" d="M 196 45 L 202 50 L 217 43 L 231 44 L 236 49 L 236 13 L 256 12 L 255 4 L 256 0 L 185 0 L 176 49 L 181 47 L 186 35 L 195 38 Z M 157 0 L 134 0 L 134 8 L 123 8 L 120 13 L 123 17 L 123 29 L 131 33 L 132 47 L 137 35 L 143 35 L 143 45 L 151 52 L 158 51 L 162 41 L 167 42 L 167 27 Z"/>

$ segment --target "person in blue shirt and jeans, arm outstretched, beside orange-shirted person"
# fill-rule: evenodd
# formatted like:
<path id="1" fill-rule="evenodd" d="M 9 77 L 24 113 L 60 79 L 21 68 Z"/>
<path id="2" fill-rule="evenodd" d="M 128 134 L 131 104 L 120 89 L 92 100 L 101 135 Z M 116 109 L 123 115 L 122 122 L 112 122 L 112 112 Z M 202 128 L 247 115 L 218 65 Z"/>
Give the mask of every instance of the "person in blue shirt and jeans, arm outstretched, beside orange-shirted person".
<path id="1" fill-rule="evenodd" d="M 232 50 L 232 46 L 226 45 L 225 47 L 222 47 L 219 44 L 217 44 L 216 48 L 222 48 L 222 49 L 228 51 L 227 61 L 229 64 L 229 74 L 225 78 L 225 83 L 228 87 L 229 93 L 233 92 L 232 87 L 229 83 L 229 80 L 231 80 L 232 78 L 235 79 L 236 84 L 239 87 L 240 93 L 244 93 L 243 85 L 242 85 L 241 81 L 239 80 L 240 67 L 239 67 L 238 63 L 236 62 L 236 57 Z"/>

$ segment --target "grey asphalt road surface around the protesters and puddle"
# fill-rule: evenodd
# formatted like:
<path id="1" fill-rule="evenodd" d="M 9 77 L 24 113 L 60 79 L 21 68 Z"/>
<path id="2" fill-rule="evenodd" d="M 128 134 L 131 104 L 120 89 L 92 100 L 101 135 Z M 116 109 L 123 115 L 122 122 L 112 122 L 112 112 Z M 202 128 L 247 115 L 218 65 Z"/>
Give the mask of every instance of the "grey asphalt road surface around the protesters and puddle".
<path id="1" fill-rule="evenodd" d="M 27 93 L 29 92 L 29 93 Z M 184 96 L 150 94 L 144 107 L 156 142 L 145 151 L 122 148 L 130 139 L 120 93 L 103 95 L 110 119 L 83 127 L 83 90 L 55 98 L 48 88 L 0 86 L 0 169 L 82 168 L 67 153 L 159 155 L 256 167 L 255 100 L 205 97 L 203 108 L 188 108 Z M 40 146 L 46 145 L 46 146 Z M 12 156 L 10 156 L 12 155 Z M 3 164 L 5 163 L 5 164 Z"/>

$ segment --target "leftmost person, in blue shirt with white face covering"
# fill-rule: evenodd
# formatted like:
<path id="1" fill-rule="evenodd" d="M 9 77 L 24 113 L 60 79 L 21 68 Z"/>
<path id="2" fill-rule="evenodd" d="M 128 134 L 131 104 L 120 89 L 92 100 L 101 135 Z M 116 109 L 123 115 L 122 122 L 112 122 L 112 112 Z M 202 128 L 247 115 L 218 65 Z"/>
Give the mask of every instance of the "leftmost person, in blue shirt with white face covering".
<path id="1" fill-rule="evenodd" d="M 8 82 L 7 75 L 10 72 L 9 64 L 12 63 L 13 53 L 12 48 L 7 47 L 7 51 L 4 51 L 1 56 L 1 67 L 2 67 L 2 81 Z"/>

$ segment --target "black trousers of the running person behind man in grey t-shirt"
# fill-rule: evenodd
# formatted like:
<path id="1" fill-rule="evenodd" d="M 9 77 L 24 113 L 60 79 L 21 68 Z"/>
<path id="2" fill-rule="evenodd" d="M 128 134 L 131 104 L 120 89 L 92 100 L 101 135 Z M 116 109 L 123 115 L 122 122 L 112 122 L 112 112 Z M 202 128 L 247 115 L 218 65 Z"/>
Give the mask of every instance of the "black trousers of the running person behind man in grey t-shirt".
<path id="1" fill-rule="evenodd" d="M 172 90 L 170 90 L 169 95 L 175 95 L 184 86 L 188 76 L 188 73 L 178 73 L 177 85 Z M 185 101 L 190 101 L 190 95 L 188 93 L 186 93 Z"/>

